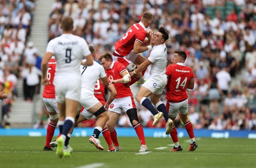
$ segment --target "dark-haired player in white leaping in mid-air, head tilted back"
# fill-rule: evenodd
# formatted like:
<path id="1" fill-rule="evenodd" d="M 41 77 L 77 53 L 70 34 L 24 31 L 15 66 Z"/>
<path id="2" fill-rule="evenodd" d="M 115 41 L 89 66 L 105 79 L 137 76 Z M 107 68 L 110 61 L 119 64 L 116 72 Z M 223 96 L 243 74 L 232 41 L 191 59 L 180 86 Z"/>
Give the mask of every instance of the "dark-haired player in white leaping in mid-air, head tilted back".
<path id="1" fill-rule="evenodd" d="M 168 38 L 168 31 L 166 31 L 164 27 L 160 27 L 159 31 L 154 34 L 154 37 L 150 42 L 151 45 L 154 45 L 150 52 L 150 56 L 143 63 L 141 63 L 138 68 L 131 72 L 131 75 L 140 73 L 151 65 L 150 77 L 141 86 L 137 93 L 136 100 L 154 115 L 153 126 L 156 126 L 159 119 L 164 116 L 166 121 L 166 129 L 170 130 L 172 129 L 173 121 L 172 119 L 169 119 L 166 107 L 160 100 L 167 82 L 165 75 L 167 65 L 167 48 L 164 42 L 168 40 Z M 148 96 L 150 96 L 151 102 L 147 98 Z M 152 103 L 157 109 L 155 109 Z"/>

